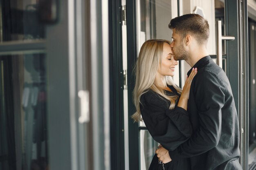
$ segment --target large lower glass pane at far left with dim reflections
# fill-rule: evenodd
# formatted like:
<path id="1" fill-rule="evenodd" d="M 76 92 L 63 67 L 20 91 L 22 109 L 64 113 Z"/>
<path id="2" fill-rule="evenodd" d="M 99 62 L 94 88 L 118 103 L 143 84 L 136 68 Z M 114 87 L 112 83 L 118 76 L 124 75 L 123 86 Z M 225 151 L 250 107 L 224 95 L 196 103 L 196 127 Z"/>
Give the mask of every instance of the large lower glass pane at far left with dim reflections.
<path id="1" fill-rule="evenodd" d="M 0 170 L 48 170 L 45 55 L 0 56 Z"/>

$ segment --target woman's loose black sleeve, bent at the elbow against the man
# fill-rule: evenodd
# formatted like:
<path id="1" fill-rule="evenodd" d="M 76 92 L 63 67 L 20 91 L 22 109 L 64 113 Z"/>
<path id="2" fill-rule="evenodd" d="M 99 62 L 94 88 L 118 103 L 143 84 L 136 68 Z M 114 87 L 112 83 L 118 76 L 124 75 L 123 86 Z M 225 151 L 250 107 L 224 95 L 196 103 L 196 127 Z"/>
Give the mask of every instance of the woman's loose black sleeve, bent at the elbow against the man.
<path id="1" fill-rule="evenodd" d="M 191 136 L 189 115 L 183 108 L 169 110 L 164 99 L 150 92 L 141 96 L 140 108 L 150 135 L 167 150 L 174 150 Z"/>

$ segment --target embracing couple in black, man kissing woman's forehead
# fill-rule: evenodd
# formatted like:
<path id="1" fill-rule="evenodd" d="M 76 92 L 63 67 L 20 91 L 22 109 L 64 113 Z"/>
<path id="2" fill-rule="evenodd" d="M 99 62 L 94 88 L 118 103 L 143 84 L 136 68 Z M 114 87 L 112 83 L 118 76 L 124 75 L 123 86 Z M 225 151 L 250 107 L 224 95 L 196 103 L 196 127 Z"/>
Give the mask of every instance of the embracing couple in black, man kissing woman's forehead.
<path id="1" fill-rule="evenodd" d="M 234 97 L 207 52 L 207 20 L 186 14 L 169 28 L 173 41 L 147 40 L 136 65 L 132 118 L 161 144 L 149 170 L 242 170 Z M 178 60 L 191 66 L 183 89 L 171 77 Z"/>

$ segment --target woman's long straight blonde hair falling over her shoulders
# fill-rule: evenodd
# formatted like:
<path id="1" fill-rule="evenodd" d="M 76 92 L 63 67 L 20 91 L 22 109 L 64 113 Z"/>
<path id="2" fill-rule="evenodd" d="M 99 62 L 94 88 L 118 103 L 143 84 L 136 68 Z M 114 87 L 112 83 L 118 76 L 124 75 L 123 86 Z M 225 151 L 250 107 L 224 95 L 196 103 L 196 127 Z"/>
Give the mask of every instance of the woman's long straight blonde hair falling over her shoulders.
<path id="1" fill-rule="evenodd" d="M 139 108 L 140 97 L 149 89 L 168 99 L 171 102 L 169 109 L 173 109 L 175 107 L 175 103 L 178 99 L 177 95 L 166 95 L 166 92 L 155 84 L 157 69 L 160 63 L 162 63 L 162 52 L 164 43 L 171 44 L 171 42 L 168 40 L 147 40 L 141 46 L 141 49 L 139 51 L 139 57 L 135 66 L 136 81 L 133 91 L 133 102 L 136 107 L 136 112 L 132 115 L 132 119 L 137 122 L 142 121 Z M 177 92 L 181 94 L 182 90 L 178 86 L 176 86 L 176 84 L 174 84 L 171 76 L 165 76 L 165 79 L 166 84 L 173 85 Z"/>

